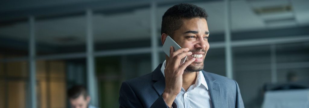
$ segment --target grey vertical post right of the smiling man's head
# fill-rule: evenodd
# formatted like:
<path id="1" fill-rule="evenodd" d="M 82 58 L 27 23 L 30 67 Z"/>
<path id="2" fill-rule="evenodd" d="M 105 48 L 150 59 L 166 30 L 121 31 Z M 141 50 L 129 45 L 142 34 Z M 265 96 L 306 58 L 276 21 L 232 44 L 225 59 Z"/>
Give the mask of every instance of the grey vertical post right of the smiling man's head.
<path id="1" fill-rule="evenodd" d="M 233 79 L 233 58 L 231 48 L 231 11 L 230 1 L 225 0 L 225 65 L 226 77 Z"/>

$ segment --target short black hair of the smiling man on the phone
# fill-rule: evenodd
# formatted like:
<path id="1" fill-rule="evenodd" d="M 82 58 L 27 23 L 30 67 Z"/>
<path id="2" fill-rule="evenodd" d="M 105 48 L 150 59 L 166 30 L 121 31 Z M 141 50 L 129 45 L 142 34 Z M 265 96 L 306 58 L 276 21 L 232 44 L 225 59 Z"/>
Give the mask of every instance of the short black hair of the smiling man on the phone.
<path id="1" fill-rule="evenodd" d="M 204 18 L 207 21 L 205 9 L 189 3 L 180 3 L 169 8 L 162 17 L 161 35 L 173 37 L 174 31 L 180 29 L 184 19 Z"/>

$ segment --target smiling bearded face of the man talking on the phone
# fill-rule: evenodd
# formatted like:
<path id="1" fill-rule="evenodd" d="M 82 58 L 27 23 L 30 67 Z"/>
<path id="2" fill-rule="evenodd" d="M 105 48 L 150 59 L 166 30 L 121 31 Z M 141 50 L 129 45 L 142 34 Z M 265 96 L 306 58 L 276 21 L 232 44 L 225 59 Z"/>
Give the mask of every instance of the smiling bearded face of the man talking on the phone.
<path id="1" fill-rule="evenodd" d="M 189 48 L 192 52 L 187 60 L 196 58 L 185 69 L 186 72 L 198 72 L 204 68 L 204 59 L 209 49 L 208 36 L 208 26 L 204 18 L 184 19 L 182 27 L 174 32 L 173 38 L 180 47 Z"/>

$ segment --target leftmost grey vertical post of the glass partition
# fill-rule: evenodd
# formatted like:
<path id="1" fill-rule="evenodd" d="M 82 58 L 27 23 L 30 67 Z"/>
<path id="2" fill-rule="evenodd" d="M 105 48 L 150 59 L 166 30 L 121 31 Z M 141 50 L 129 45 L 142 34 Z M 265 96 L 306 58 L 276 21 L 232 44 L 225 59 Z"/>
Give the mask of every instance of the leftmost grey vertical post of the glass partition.
<path id="1" fill-rule="evenodd" d="M 29 107 L 36 108 L 36 46 L 35 46 L 35 18 L 29 17 Z"/>

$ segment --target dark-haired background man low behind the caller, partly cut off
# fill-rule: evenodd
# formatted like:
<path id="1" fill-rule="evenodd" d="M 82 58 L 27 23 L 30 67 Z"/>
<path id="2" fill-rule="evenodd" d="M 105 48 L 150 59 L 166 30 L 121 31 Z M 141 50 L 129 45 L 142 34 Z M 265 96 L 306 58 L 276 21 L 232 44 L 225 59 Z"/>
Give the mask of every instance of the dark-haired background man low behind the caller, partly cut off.
<path id="1" fill-rule="evenodd" d="M 68 98 L 70 100 L 71 108 L 95 108 L 89 105 L 91 100 L 87 90 L 82 85 L 75 85 L 68 90 Z"/>

